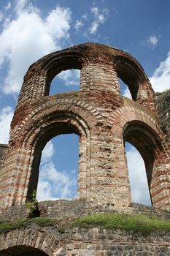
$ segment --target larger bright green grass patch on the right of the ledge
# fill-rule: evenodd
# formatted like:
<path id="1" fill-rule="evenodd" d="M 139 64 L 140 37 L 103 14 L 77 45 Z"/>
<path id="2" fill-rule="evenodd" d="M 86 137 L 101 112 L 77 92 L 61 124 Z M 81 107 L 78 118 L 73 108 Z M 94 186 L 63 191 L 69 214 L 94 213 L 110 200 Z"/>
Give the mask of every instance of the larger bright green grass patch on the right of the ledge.
<path id="1" fill-rule="evenodd" d="M 153 232 L 169 232 L 170 222 L 156 217 L 140 214 L 95 214 L 72 222 L 72 226 L 104 227 L 107 229 L 120 229 L 144 236 Z"/>

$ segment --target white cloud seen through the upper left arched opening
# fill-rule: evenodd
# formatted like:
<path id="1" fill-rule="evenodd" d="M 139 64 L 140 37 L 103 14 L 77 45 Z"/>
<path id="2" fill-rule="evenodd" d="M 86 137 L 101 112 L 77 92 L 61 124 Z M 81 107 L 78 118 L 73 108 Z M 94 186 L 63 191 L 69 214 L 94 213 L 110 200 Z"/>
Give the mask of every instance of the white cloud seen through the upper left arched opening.
<path id="1" fill-rule="evenodd" d="M 62 71 L 60 74 L 58 74 L 58 78 L 63 80 L 66 86 L 78 85 L 80 84 L 80 70 L 69 69 Z"/>

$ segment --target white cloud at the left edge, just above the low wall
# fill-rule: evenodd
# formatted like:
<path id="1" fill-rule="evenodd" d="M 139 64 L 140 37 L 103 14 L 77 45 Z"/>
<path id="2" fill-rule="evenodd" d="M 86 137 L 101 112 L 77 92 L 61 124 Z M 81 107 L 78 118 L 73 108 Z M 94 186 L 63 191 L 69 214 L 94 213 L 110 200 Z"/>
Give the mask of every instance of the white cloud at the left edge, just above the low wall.
<path id="1" fill-rule="evenodd" d="M 9 140 L 9 129 L 13 117 L 13 110 L 7 106 L 0 111 L 0 143 L 7 144 Z"/>

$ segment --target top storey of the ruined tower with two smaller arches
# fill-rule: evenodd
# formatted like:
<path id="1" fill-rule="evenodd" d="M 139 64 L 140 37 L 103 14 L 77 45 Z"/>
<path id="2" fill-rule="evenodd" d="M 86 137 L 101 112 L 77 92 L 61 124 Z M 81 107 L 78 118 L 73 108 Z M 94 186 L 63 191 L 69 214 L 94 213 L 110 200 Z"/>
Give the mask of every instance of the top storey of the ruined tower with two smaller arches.
<path id="1" fill-rule="evenodd" d="M 118 94 L 118 75 L 128 84 L 134 100 L 150 110 L 155 110 L 154 92 L 139 62 L 123 50 L 97 43 L 85 43 L 50 53 L 32 64 L 24 77 L 18 106 L 28 100 L 47 96 L 51 80 L 66 69 L 82 70 L 80 89 L 85 91 L 98 89 L 99 85 L 99 89 L 115 91 Z"/>

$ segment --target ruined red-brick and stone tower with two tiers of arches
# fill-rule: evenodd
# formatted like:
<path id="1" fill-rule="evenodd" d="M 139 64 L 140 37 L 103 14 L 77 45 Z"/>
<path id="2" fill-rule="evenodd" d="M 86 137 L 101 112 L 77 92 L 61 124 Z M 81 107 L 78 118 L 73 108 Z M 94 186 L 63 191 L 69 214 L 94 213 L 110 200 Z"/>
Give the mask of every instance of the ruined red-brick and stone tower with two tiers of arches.
<path id="1" fill-rule="evenodd" d="M 51 81 L 66 69 L 80 69 L 80 91 L 49 95 Z M 128 86 L 132 99 L 120 95 L 118 78 Z M 80 157 L 77 200 L 69 206 L 63 202 L 63 214 L 66 215 L 68 207 L 73 217 L 99 211 L 134 211 L 137 206 L 131 201 L 126 141 L 144 159 L 152 211 L 165 214 L 161 210 L 170 209 L 168 100 L 155 95 L 139 62 L 117 48 L 85 43 L 36 61 L 23 80 L 9 144 L 0 145 L 1 219 L 27 214 L 24 207 L 37 187 L 42 149 L 51 138 L 67 133 L 79 136 Z M 60 208 L 59 204 L 50 203 L 48 207 L 47 203 L 39 203 L 40 216 L 54 217 L 49 208 Z M 59 210 L 54 207 L 53 211 L 61 218 Z M 20 236 L 25 237 L 22 232 Z M 24 239 L 20 244 L 26 247 Z M 10 245 L 18 248 L 15 254 L 10 249 L 5 252 L 10 247 L 8 243 L 1 242 L 2 256 L 27 255 L 28 251 L 22 251 L 15 239 Z M 34 243 L 35 255 L 39 248 L 45 255 L 100 255 L 94 254 L 96 251 L 69 254 L 72 250 L 61 250 L 60 254 L 55 245 L 45 251 L 42 244 Z"/>

